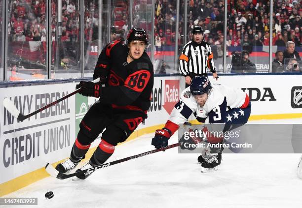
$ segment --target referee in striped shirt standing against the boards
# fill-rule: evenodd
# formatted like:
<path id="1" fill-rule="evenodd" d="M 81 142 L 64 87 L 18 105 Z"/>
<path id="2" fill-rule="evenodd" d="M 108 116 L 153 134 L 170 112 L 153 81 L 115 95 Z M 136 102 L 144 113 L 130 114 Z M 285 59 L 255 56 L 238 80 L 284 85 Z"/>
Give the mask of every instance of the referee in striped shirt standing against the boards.
<path id="1" fill-rule="evenodd" d="M 195 26 L 192 30 L 192 40 L 183 48 L 179 57 L 179 70 L 186 77 L 186 88 L 189 87 L 193 77 L 207 76 L 207 67 L 213 73 L 214 79 L 218 79 L 214 66 L 213 53 L 210 45 L 203 40 L 203 30 Z"/>

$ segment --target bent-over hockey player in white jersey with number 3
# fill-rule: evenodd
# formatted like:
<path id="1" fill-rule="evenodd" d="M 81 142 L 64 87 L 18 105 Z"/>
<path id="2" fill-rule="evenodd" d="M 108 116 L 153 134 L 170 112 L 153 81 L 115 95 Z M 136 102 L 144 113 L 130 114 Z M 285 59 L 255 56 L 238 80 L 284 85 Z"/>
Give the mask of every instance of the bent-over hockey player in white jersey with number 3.
<path id="1" fill-rule="evenodd" d="M 182 92 L 165 127 L 155 131 L 151 144 L 156 149 L 166 147 L 169 138 L 191 114 L 199 122 L 225 123 L 224 131 L 231 130 L 230 128 L 247 122 L 251 114 L 251 102 L 249 96 L 241 89 L 211 84 L 206 76 L 196 76 L 191 85 Z M 204 128 L 203 131 L 208 129 Z M 214 144 L 223 141 L 214 139 L 208 142 Z M 203 173 L 217 170 L 221 163 L 222 151 L 223 148 L 210 148 L 210 151 L 205 151 L 198 157 Z"/>

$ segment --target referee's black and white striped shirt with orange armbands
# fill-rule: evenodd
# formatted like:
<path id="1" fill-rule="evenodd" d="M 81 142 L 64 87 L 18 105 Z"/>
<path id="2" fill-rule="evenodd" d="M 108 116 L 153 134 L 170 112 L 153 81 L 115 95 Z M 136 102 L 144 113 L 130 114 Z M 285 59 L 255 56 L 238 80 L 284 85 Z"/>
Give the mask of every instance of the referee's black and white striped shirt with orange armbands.
<path id="1" fill-rule="evenodd" d="M 216 72 L 214 66 L 213 53 L 210 45 L 202 40 L 200 44 L 189 41 L 183 48 L 179 57 L 179 70 L 184 76 L 193 73 L 202 75 L 206 73 L 206 68 L 211 72 Z"/>

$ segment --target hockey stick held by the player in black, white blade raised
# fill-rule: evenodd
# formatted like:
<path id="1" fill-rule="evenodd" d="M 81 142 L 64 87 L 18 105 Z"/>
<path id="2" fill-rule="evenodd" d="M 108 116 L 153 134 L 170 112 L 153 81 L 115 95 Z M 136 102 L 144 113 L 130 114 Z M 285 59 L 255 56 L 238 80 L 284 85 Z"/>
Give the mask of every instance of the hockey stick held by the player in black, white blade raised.
<path id="1" fill-rule="evenodd" d="M 93 80 L 93 83 L 97 83 L 100 81 L 100 78 L 97 78 L 95 80 Z M 7 111 L 9 111 L 15 118 L 17 118 L 20 121 L 23 121 L 27 118 L 30 118 L 31 116 L 34 116 L 36 114 L 38 114 L 39 112 L 45 110 L 46 108 L 49 108 L 59 102 L 61 102 L 62 100 L 65 100 L 66 98 L 69 98 L 70 96 L 76 94 L 77 92 L 79 92 L 81 90 L 81 88 L 76 89 L 75 91 L 73 91 L 72 93 L 69 93 L 67 95 L 65 95 L 64 97 L 61 97 L 55 101 L 53 101 L 52 103 L 49 103 L 45 106 L 43 106 L 42 108 L 38 109 L 37 111 L 34 111 L 33 113 L 27 114 L 27 115 L 23 115 L 21 114 L 21 112 L 16 108 L 16 106 L 14 105 L 13 101 L 11 101 L 8 97 L 4 98 L 3 100 L 3 106 L 6 108 Z"/>

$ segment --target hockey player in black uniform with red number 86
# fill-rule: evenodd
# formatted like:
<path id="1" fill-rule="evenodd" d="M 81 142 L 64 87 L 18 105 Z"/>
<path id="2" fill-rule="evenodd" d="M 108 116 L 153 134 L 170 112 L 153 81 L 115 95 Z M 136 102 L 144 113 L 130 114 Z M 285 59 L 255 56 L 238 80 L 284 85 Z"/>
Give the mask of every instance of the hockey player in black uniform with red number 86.
<path id="1" fill-rule="evenodd" d="M 113 154 L 114 147 L 147 118 L 153 88 L 153 66 L 145 52 L 147 44 L 145 30 L 130 30 L 127 41 L 113 41 L 102 50 L 93 75 L 93 79 L 100 77 L 101 82 L 81 81 L 76 86 L 82 88 L 80 94 L 100 100 L 81 120 L 70 158 L 57 165 L 58 171 L 64 173 L 76 168 L 90 144 L 106 128 L 89 162 L 77 171 L 103 164 Z M 85 179 L 90 174 L 78 178 Z"/>

